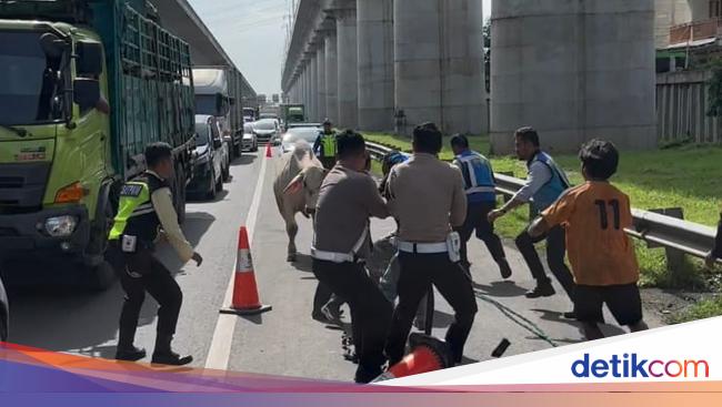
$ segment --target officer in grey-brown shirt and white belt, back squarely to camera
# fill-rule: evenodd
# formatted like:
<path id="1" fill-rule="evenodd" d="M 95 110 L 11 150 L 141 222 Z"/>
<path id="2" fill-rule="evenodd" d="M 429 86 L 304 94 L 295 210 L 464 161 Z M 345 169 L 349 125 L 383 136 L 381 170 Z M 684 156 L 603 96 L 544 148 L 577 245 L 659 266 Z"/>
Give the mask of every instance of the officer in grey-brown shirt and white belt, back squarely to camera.
<path id="1" fill-rule="evenodd" d="M 399 304 L 385 346 L 391 365 L 403 357 L 417 307 L 431 284 L 455 313 L 447 332 L 454 363 L 462 359 L 477 313 L 471 278 L 459 264 L 459 236 L 453 233 L 467 216 L 467 196 L 459 170 L 438 159 L 441 144 L 434 124 L 418 126 L 412 157 L 394 166 L 389 176 L 389 210 L 399 220 L 401 265 Z"/>

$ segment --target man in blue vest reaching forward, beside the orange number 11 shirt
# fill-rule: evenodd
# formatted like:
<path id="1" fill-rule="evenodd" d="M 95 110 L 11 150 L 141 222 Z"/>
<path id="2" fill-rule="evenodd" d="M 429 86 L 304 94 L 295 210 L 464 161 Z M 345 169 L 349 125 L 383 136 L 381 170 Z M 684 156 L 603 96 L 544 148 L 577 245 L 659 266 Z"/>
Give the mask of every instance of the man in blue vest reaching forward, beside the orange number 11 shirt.
<path id="1" fill-rule="evenodd" d="M 566 174 L 554 160 L 541 150 L 539 134 L 532 128 L 519 129 L 515 133 L 514 149 L 519 160 L 527 161 L 529 170 L 527 183 L 501 208 L 489 214 L 489 221 L 504 216 L 511 210 L 531 203 L 534 213 L 541 213 L 551 206 L 566 191 L 571 183 Z M 546 241 L 546 262 L 554 277 L 562 285 L 566 295 L 574 296 L 574 278 L 564 263 L 566 253 L 565 233 L 562 226 L 551 228 L 548 233 L 532 237 L 527 230 L 517 236 L 517 247 L 521 252 L 531 274 L 537 281 L 537 286 L 527 293 L 528 298 L 549 297 L 554 295 L 554 287 L 546 276 L 534 244 Z M 564 313 L 564 317 L 574 318 L 574 313 Z"/>

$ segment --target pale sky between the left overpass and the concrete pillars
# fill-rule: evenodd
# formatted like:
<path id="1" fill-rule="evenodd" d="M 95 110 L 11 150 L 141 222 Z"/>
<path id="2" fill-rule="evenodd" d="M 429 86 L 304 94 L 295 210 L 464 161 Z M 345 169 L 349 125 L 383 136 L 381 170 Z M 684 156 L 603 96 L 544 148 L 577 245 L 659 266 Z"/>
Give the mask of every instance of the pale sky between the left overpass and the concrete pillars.
<path id="1" fill-rule="evenodd" d="M 291 0 L 189 0 L 258 93 L 281 91 Z M 491 0 L 483 0 L 484 16 Z"/>

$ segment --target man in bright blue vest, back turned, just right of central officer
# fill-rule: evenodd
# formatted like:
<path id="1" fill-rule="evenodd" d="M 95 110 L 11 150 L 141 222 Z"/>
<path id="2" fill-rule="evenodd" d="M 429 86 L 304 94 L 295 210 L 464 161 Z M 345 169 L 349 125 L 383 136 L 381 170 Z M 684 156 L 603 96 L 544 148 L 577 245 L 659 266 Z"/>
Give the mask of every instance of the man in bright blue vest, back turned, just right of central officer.
<path id="1" fill-rule="evenodd" d="M 471 267 L 467 254 L 467 244 L 472 232 L 483 241 L 492 258 L 499 265 L 502 278 L 511 277 L 511 267 L 501 240 L 494 233 L 494 225 L 489 222 L 489 213 L 497 207 L 497 184 L 494 171 L 489 160 L 482 154 L 469 149 L 469 140 L 462 134 L 451 138 L 451 150 L 455 155 L 454 165 L 463 175 L 467 192 L 467 221 L 457 230 L 461 235 L 461 264 Z"/>

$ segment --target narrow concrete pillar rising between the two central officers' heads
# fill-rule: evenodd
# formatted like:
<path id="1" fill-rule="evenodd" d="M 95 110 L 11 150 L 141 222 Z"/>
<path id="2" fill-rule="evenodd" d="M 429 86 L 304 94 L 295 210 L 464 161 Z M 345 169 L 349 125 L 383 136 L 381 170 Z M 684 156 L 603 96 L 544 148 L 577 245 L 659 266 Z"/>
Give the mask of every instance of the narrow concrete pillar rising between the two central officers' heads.
<path id="1" fill-rule="evenodd" d="M 359 128 L 393 129 L 393 0 L 357 6 L 359 39 Z"/>

